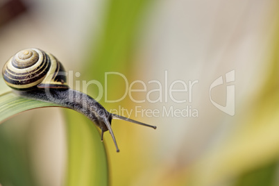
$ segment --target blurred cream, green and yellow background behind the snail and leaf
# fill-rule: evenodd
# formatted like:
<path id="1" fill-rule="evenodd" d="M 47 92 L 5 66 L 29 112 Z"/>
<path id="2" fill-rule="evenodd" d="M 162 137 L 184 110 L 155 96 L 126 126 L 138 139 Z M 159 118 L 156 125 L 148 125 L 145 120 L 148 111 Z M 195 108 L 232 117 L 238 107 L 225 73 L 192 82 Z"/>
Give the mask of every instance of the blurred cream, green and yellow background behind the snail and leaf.
<path id="1" fill-rule="evenodd" d="M 108 110 L 120 105 L 133 111 L 131 118 L 158 126 L 113 121 L 121 151 L 116 153 L 106 133 L 110 185 L 279 185 L 278 5 L 272 0 L 1 0 L 0 64 L 21 49 L 37 47 L 80 73 L 74 87 L 93 79 L 104 85 L 108 71 L 124 74 L 128 83 L 143 81 L 147 91 L 158 88 L 149 81 L 160 81 L 163 89 L 177 80 L 198 81 L 192 102 L 185 92 L 174 96 L 186 103 L 169 95 L 155 103 L 134 103 L 129 96 L 105 103 L 102 97 Z M 215 108 L 209 96 L 211 83 L 232 70 L 234 116 Z M 108 81 L 110 99 L 124 94 L 121 78 Z M 139 83 L 133 87 L 142 89 Z M 92 85 L 88 94 L 94 97 L 99 90 Z M 151 94 L 153 100 L 158 96 Z M 133 97 L 146 99 L 146 93 Z M 226 85 L 212 90 L 212 99 L 226 105 Z M 164 107 L 187 105 L 198 117 L 162 115 Z M 135 115 L 135 106 L 161 112 Z M 67 185 L 66 112 L 31 110 L 0 125 L 3 186 Z"/>

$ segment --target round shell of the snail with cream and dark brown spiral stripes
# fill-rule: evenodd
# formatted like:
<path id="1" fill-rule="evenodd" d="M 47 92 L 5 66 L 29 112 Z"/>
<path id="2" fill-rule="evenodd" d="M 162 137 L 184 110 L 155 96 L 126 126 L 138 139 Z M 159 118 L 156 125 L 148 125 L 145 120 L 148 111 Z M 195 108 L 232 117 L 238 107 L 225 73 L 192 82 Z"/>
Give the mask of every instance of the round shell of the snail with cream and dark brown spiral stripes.
<path id="1" fill-rule="evenodd" d="M 7 85 L 15 90 L 68 88 L 64 67 L 40 49 L 19 51 L 6 62 L 2 74 Z"/>

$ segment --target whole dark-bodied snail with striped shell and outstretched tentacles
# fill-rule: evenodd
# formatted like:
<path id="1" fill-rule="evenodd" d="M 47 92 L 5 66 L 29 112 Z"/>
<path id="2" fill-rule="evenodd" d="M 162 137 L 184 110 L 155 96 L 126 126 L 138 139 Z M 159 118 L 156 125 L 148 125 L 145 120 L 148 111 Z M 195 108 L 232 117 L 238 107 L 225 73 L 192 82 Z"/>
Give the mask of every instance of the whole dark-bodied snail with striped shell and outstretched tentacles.
<path id="1" fill-rule="evenodd" d="M 101 129 L 102 141 L 103 133 L 109 130 L 117 152 L 119 148 L 111 128 L 112 119 L 156 128 L 156 126 L 112 114 L 91 96 L 71 89 L 67 85 L 67 76 L 62 64 L 56 57 L 40 49 L 24 49 L 17 52 L 6 62 L 2 74 L 6 84 L 19 96 L 56 103 L 81 112 Z"/>

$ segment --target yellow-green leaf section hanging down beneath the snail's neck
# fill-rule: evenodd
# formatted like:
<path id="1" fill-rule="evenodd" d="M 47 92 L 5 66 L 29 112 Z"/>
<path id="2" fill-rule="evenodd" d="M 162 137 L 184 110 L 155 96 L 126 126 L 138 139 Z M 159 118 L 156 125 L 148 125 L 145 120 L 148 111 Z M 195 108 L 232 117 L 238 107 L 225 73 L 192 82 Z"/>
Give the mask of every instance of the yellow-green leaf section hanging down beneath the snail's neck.
<path id="1" fill-rule="evenodd" d="M 108 185 L 107 156 L 96 126 L 78 112 L 66 110 L 68 167 L 66 185 Z"/>

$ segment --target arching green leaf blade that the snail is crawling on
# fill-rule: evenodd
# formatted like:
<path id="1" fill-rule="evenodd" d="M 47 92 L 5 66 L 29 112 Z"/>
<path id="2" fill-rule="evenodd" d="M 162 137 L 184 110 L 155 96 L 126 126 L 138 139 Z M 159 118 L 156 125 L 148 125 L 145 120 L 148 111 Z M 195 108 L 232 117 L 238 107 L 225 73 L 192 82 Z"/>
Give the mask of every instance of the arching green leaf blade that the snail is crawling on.
<path id="1" fill-rule="evenodd" d="M 21 98 L 0 78 L 0 122 L 19 112 L 51 106 L 59 105 Z M 67 110 L 66 115 L 69 156 L 65 182 L 67 185 L 108 185 L 108 164 L 98 130 L 92 121 L 78 112 Z M 10 175 L 12 173 L 6 179 L 10 179 Z"/>

